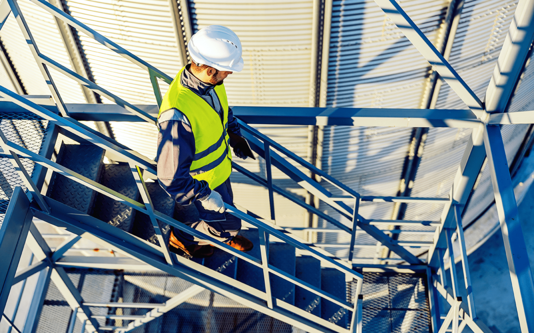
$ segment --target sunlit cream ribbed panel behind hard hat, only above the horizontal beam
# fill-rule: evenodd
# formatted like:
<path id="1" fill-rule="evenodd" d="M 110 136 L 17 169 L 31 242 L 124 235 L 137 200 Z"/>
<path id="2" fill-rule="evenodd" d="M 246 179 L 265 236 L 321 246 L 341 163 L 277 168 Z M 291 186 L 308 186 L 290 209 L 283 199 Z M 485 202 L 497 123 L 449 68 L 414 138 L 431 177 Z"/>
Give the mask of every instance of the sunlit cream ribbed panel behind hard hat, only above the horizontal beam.
<path id="1" fill-rule="evenodd" d="M 310 94 L 311 0 L 191 0 L 193 33 L 208 25 L 232 29 L 241 40 L 244 69 L 229 78 L 234 105 L 307 107 Z"/>

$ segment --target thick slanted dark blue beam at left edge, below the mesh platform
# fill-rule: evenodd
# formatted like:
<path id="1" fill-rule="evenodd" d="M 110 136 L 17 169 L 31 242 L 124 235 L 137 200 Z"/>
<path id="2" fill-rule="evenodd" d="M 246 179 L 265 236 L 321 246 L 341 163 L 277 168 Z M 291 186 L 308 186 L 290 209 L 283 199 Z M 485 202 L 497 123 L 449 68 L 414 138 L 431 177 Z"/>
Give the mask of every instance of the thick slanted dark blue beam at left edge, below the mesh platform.
<path id="1" fill-rule="evenodd" d="M 4 313 L 7 297 L 19 266 L 20 255 L 32 224 L 30 201 L 20 186 L 16 186 L 0 228 L 0 314 Z"/>

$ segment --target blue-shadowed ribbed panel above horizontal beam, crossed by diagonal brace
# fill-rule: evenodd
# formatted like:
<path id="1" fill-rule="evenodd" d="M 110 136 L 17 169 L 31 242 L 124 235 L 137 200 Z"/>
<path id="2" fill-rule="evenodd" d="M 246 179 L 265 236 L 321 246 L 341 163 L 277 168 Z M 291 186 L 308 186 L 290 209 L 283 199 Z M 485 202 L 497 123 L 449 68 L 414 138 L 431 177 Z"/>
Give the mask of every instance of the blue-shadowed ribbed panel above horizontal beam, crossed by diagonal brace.
<path id="1" fill-rule="evenodd" d="M 403 1 L 437 44 L 447 2 Z M 327 105 L 418 108 L 429 64 L 374 1 L 334 1 Z"/>

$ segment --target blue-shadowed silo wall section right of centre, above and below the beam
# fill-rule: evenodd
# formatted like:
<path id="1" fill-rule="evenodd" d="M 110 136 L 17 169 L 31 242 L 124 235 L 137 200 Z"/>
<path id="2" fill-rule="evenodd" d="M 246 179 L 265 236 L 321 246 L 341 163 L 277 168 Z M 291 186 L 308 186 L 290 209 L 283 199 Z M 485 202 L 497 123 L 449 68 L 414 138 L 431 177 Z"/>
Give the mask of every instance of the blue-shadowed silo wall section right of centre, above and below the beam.
<path id="1" fill-rule="evenodd" d="M 447 2 L 403 1 L 402 7 L 437 45 Z M 421 106 L 429 64 L 373 1 L 334 1 L 330 38 L 327 106 Z M 364 196 L 395 196 L 411 136 L 411 128 L 326 126 L 322 167 Z M 364 202 L 359 212 L 366 218 L 388 220 L 393 208 Z M 340 218 L 324 204 L 320 209 Z M 348 243 L 349 237 L 326 233 L 319 241 Z M 355 249 L 359 262 L 366 262 L 362 258 L 372 262 L 380 252 L 374 247 L 376 240 L 366 235 L 358 235 L 357 244 L 366 246 Z M 332 250 L 347 255 L 346 248 Z"/>

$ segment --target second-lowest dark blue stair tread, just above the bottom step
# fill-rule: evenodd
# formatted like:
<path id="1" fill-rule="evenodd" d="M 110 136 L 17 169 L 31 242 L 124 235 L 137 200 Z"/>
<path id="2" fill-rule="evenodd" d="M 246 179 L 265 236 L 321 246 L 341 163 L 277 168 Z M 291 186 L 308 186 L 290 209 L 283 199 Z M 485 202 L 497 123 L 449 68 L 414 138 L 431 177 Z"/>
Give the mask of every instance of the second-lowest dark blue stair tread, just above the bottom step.
<path id="1" fill-rule="evenodd" d="M 321 287 L 321 262 L 311 256 L 296 257 L 295 277 Z M 295 287 L 295 306 L 313 315 L 321 315 L 321 298 L 302 287 Z"/>

